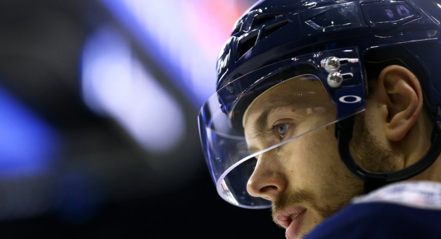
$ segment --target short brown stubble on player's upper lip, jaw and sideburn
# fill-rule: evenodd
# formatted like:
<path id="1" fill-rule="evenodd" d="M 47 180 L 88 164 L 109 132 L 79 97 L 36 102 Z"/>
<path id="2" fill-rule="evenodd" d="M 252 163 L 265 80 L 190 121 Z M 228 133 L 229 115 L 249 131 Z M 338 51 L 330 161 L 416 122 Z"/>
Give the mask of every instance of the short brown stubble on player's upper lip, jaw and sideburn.
<path id="1" fill-rule="evenodd" d="M 371 172 L 394 171 L 393 153 L 390 150 L 381 147 L 379 141 L 369 132 L 368 128 L 363 112 L 356 117 L 354 137 L 350 142 L 353 158 L 361 165 L 361 167 Z M 320 217 L 320 222 L 341 210 L 353 197 L 361 195 L 362 182 L 359 179 L 355 179 L 349 173 L 341 175 L 338 172 L 335 172 L 333 168 L 330 168 L 329 170 L 331 172 L 330 175 L 335 176 L 334 179 L 329 180 L 331 183 L 328 183 L 327 185 L 329 187 L 329 196 L 333 195 L 331 197 L 335 199 L 332 204 L 328 204 L 326 207 L 320 207 L 319 202 L 312 192 L 296 188 L 295 190 L 282 194 L 280 198 L 273 202 L 273 220 L 278 212 L 289 205 L 300 204 L 307 205 L 309 209 L 316 211 Z M 333 185 L 339 185 L 337 183 L 344 183 L 344 190 L 341 188 L 332 188 Z M 339 193 L 340 195 L 336 195 L 336 193 Z"/>

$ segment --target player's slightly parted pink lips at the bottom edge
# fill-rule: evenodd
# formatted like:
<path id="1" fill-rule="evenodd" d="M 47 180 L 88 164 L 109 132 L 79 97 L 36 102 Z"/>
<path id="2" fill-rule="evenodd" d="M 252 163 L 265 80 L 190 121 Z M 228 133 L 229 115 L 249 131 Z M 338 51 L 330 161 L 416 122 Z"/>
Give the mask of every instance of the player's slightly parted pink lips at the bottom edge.
<path id="1" fill-rule="evenodd" d="M 301 221 L 305 211 L 306 208 L 304 207 L 292 207 L 277 214 L 277 223 L 286 229 L 286 239 L 295 239 L 299 236 Z"/>

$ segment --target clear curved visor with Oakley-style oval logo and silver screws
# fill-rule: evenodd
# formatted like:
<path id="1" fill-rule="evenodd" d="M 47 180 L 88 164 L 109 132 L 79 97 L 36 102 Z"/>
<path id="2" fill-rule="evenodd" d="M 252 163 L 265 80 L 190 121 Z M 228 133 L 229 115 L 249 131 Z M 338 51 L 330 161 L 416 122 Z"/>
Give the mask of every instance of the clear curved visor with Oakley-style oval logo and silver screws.
<path id="1" fill-rule="evenodd" d="M 329 66 L 331 57 L 338 67 Z M 340 78 L 330 79 L 335 75 Z M 284 60 L 233 80 L 207 100 L 198 116 L 219 195 L 244 208 L 270 207 L 270 201 L 246 190 L 259 157 L 363 110 L 356 49 Z"/>

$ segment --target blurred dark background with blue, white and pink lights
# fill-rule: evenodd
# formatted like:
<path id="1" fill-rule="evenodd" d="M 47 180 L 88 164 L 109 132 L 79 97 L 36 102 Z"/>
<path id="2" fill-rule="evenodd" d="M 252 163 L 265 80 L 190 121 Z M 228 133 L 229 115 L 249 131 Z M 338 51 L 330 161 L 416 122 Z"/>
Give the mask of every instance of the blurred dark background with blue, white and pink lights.
<path id="1" fill-rule="evenodd" d="M 284 238 L 223 201 L 200 106 L 256 0 L 1 0 L 1 238 Z"/>

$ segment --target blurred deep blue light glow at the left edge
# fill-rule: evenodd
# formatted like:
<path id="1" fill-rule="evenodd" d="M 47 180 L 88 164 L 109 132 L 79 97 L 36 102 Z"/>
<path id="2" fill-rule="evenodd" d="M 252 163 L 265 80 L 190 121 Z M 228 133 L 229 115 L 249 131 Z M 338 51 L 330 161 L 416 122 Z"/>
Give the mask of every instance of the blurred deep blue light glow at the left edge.
<path id="1" fill-rule="evenodd" d="M 59 146 L 54 130 L 0 87 L 0 178 L 47 172 Z"/>

